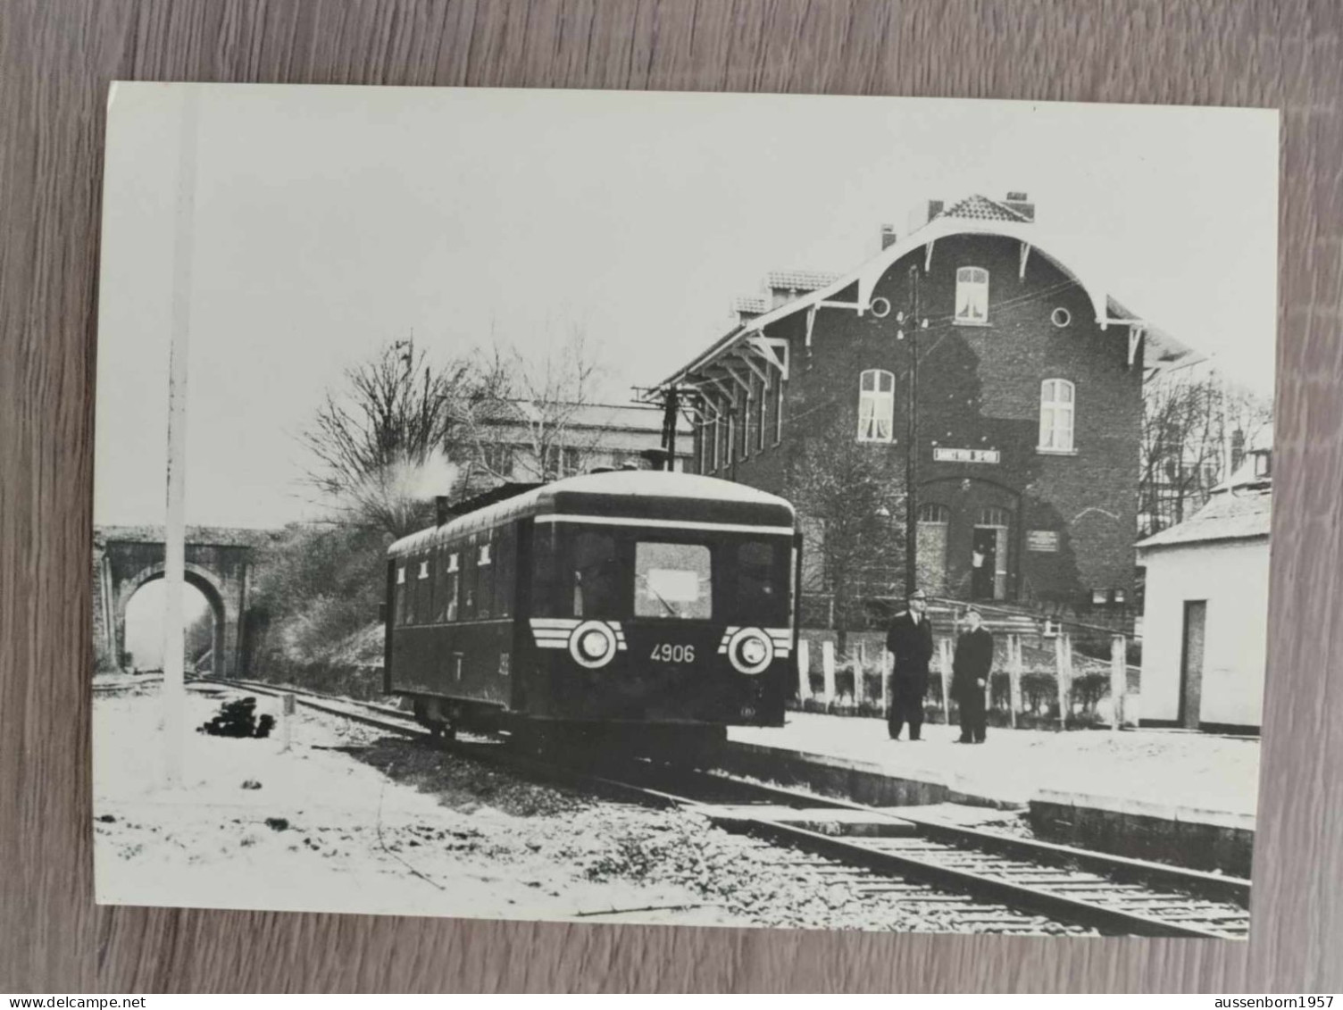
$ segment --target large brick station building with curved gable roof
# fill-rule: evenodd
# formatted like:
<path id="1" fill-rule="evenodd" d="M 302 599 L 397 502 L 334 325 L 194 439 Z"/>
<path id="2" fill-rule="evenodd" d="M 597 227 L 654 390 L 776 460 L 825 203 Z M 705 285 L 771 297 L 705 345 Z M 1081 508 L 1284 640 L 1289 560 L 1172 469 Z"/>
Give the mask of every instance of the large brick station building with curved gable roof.
<path id="1" fill-rule="evenodd" d="M 806 441 L 843 426 L 901 470 L 915 453 L 931 594 L 1127 610 L 1143 384 L 1190 349 L 1041 231 L 1025 193 L 927 201 L 912 224 L 850 273 L 771 274 L 659 385 L 694 414 L 692 469 L 790 497 Z M 898 594 L 902 572 L 886 582 Z"/>

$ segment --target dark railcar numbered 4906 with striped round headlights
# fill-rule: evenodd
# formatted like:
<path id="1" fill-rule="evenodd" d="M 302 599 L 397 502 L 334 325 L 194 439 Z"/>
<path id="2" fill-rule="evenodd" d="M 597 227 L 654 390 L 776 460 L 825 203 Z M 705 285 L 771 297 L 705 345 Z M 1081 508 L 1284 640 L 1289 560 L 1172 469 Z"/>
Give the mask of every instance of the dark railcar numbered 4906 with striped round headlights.
<path id="1" fill-rule="evenodd" d="M 649 747 L 783 724 L 800 571 L 783 498 L 618 470 L 458 513 L 388 549 L 384 689 L 423 724 Z"/>

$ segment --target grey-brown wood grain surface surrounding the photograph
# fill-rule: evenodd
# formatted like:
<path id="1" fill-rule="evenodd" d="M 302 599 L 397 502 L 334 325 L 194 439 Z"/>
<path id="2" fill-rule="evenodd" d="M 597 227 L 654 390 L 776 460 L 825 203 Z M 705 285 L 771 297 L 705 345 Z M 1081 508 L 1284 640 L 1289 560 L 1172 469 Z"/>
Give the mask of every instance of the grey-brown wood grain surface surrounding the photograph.
<path id="1" fill-rule="evenodd" d="M 1338 0 L 3 0 L 0 19 L 0 991 L 1343 990 Z M 1280 107 L 1252 942 L 95 908 L 95 271 L 103 106 L 118 78 Z"/>

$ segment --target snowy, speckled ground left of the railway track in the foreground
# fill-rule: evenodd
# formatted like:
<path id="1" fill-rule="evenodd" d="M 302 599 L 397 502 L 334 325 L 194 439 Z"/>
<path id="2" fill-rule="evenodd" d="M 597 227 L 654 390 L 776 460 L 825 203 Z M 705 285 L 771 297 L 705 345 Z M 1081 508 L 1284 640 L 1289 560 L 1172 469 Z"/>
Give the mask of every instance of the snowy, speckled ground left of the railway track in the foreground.
<path id="1" fill-rule="evenodd" d="M 188 692 L 188 724 L 240 692 Z M 257 710 L 278 715 L 259 697 Z M 157 688 L 94 705 L 107 904 L 577 921 L 992 931 L 860 896 L 833 868 L 692 813 L 595 800 L 299 709 L 293 748 L 191 733 L 158 786 Z M 1018 923 L 1029 923 L 1018 917 Z M 1077 932 L 1035 920 L 1041 932 Z"/>

